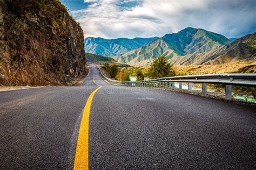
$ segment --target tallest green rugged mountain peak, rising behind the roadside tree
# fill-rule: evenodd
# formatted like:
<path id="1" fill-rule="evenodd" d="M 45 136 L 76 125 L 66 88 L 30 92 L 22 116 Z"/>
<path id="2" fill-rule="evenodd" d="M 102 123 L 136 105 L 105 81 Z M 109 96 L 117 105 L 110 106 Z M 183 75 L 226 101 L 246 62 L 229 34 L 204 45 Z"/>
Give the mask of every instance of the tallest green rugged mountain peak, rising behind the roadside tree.
<path id="1" fill-rule="evenodd" d="M 187 27 L 178 33 L 166 34 L 164 37 L 115 58 L 129 65 L 146 65 L 159 55 L 164 54 L 171 59 L 187 54 L 212 51 L 231 42 L 220 34 Z"/>

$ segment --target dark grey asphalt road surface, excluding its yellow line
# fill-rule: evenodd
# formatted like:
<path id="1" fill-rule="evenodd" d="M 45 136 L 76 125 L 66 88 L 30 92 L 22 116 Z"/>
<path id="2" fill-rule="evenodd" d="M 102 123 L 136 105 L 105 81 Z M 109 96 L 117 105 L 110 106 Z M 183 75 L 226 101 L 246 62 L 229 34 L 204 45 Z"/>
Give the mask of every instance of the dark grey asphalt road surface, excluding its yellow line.
<path id="1" fill-rule="evenodd" d="M 255 108 L 171 91 L 114 86 L 95 66 L 80 87 L 0 92 L 0 169 L 72 169 L 93 90 L 95 168 L 256 168 Z"/>

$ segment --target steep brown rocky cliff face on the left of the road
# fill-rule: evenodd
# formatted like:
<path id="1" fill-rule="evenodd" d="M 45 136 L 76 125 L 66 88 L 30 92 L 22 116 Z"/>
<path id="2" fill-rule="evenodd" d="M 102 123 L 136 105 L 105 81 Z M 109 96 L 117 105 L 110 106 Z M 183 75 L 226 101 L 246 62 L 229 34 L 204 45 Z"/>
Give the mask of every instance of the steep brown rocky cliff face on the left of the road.
<path id="1" fill-rule="evenodd" d="M 58 0 L 0 0 L 0 85 L 65 85 L 85 74 L 83 39 Z"/>

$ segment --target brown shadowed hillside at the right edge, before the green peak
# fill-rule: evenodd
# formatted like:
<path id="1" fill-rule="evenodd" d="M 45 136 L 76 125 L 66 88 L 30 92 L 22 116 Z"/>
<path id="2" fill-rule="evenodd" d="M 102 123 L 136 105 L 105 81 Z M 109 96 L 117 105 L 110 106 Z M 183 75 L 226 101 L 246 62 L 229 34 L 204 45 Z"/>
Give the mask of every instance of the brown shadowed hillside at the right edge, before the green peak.
<path id="1" fill-rule="evenodd" d="M 174 65 L 221 65 L 256 63 L 256 32 L 205 53 L 194 53 L 170 59 Z"/>

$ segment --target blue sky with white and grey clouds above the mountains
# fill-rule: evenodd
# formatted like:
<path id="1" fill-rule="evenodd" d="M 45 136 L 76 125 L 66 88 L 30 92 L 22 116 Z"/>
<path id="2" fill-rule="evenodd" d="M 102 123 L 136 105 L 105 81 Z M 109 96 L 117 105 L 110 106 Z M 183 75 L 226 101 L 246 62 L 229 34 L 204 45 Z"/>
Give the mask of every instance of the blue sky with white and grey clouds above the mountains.
<path id="1" fill-rule="evenodd" d="M 163 37 L 196 27 L 240 38 L 256 31 L 256 0 L 61 0 L 86 37 Z"/>

